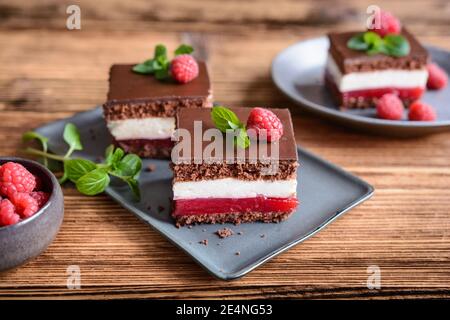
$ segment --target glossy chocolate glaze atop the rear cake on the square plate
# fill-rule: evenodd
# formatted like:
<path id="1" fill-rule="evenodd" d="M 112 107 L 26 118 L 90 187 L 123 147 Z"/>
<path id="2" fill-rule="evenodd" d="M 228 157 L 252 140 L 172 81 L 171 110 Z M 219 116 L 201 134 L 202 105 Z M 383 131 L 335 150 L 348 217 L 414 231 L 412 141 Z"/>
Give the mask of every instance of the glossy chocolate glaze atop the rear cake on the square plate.
<path id="1" fill-rule="evenodd" d="M 108 101 L 153 100 L 174 97 L 207 97 L 210 94 L 208 70 L 198 62 L 199 75 L 186 84 L 173 80 L 159 81 L 153 75 L 131 70 L 133 64 L 114 64 L 109 72 Z"/>

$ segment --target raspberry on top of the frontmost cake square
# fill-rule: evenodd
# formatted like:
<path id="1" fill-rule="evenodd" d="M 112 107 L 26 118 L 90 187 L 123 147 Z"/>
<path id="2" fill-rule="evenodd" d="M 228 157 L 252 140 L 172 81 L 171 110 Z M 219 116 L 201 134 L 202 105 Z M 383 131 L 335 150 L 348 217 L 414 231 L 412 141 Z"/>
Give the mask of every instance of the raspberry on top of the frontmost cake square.
<path id="1" fill-rule="evenodd" d="M 283 135 L 283 124 L 272 111 L 264 108 L 253 108 L 247 119 L 247 130 L 251 138 L 264 140 L 267 134 L 267 141 L 278 141 Z M 264 130 L 264 134 L 262 132 Z M 256 134 L 256 137 L 254 136 Z"/>

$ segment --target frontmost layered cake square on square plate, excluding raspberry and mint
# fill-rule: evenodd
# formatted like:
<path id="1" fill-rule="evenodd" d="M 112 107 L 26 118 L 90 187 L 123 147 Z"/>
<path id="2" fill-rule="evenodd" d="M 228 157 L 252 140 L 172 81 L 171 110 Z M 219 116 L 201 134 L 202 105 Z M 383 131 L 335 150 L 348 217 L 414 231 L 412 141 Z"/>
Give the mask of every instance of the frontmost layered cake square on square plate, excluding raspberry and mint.
<path id="1" fill-rule="evenodd" d="M 230 108 L 244 123 L 251 108 Z M 173 211 L 178 226 L 196 223 L 279 222 L 287 219 L 298 205 L 297 146 L 288 109 L 269 109 L 281 120 L 284 134 L 277 142 L 278 169 L 265 174 L 268 160 L 275 159 L 270 142 L 251 141 L 245 155 L 227 159 L 204 158 L 194 161 L 182 152 L 172 158 Z M 180 109 L 177 128 L 194 135 L 194 121 L 201 121 L 202 133 L 215 128 L 209 109 Z M 225 136 L 225 135 L 224 135 Z M 200 144 L 202 151 L 210 141 Z M 268 157 L 250 158 L 267 144 Z M 195 148 L 192 141 L 191 149 Z M 225 149 L 225 147 L 224 147 Z M 236 149 L 236 147 L 235 147 Z M 225 154 L 225 151 L 224 151 Z M 273 157 L 273 158 L 272 158 Z M 214 160 L 214 161 L 212 161 Z"/>

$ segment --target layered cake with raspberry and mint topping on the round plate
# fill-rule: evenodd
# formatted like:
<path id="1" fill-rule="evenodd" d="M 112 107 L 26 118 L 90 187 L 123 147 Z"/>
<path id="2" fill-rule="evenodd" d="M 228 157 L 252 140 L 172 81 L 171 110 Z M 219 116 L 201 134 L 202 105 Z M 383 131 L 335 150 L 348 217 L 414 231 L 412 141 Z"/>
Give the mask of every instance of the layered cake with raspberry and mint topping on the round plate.
<path id="1" fill-rule="evenodd" d="M 427 50 L 391 14 L 380 19 L 378 29 L 328 35 L 325 84 L 342 108 L 372 107 L 386 93 L 409 105 L 426 89 Z"/>

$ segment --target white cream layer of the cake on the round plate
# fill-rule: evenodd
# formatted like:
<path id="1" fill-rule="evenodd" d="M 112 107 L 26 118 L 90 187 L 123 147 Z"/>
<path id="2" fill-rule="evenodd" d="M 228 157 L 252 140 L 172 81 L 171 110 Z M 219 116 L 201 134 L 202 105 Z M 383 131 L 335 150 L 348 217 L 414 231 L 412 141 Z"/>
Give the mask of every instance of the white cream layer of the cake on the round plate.
<path id="1" fill-rule="evenodd" d="M 342 74 L 331 55 L 328 55 L 326 68 L 341 92 L 377 88 L 425 87 L 428 78 L 426 69 L 388 69 Z"/>

